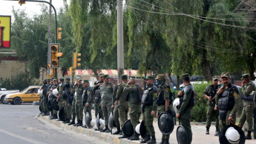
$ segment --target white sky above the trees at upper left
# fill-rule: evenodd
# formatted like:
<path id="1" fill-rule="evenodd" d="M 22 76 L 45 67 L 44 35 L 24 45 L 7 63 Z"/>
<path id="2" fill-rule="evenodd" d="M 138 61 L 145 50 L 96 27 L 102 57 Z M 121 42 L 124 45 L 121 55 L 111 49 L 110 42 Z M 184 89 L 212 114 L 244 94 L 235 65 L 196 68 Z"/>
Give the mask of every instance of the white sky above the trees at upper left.
<path id="1" fill-rule="evenodd" d="M 45 1 L 49 2 L 50 0 Z M 68 0 L 68 4 L 69 1 L 70 0 Z M 22 4 L 21 6 L 18 1 L 0 0 L 0 16 L 13 16 L 12 10 L 14 7 L 14 10 L 25 10 L 25 13 L 27 13 L 28 17 L 33 17 L 33 15 L 41 13 L 41 6 L 39 4 L 42 3 L 26 1 L 26 4 Z M 63 0 L 52 0 L 52 4 L 56 8 L 57 13 L 59 13 L 59 9 L 61 7 L 64 7 Z M 47 6 L 48 5 L 49 4 L 47 4 Z"/>

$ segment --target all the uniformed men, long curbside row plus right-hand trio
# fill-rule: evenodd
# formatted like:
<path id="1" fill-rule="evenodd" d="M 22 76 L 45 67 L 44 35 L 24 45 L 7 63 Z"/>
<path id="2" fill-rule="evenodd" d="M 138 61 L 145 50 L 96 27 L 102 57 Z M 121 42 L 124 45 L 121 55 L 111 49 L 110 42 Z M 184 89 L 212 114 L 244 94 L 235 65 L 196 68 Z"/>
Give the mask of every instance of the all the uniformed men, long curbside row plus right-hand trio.
<path id="1" fill-rule="evenodd" d="M 218 85 L 218 78 L 213 78 L 213 84 L 206 88 L 204 92 L 205 97 L 208 99 L 208 112 L 207 112 L 207 124 L 206 134 L 209 134 L 209 127 L 211 126 L 211 118 L 215 115 L 217 118 L 216 134 L 224 126 L 228 126 L 230 123 L 235 122 L 235 116 L 238 109 L 238 102 L 240 99 L 239 90 L 237 86 L 231 83 L 229 72 L 223 72 L 221 75 L 223 84 Z M 53 85 L 47 89 L 47 97 L 50 99 L 50 93 L 53 93 L 53 89 L 58 89 L 59 94 L 56 101 L 59 102 L 59 108 L 65 107 L 65 122 L 69 125 L 82 126 L 83 111 L 88 113 L 91 117 L 92 103 L 95 103 L 95 117 L 99 117 L 105 120 L 105 128 L 100 130 L 96 128 L 96 131 L 111 132 L 108 128 L 108 118 L 111 112 L 114 115 L 114 123 L 116 123 L 117 131 L 114 134 L 122 135 L 119 138 L 128 138 L 128 140 L 139 140 L 140 134 L 134 131 L 131 137 L 127 137 L 124 134 L 123 126 L 125 121 L 128 120 L 128 114 L 130 116 L 131 125 L 135 129 L 140 124 L 140 115 L 142 114 L 142 121 L 144 123 L 147 137 L 143 137 L 140 143 L 156 143 L 155 131 L 153 126 L 154 117 L 158 117 L 163 112 L 172 113 L 171 103 L 172 93 L 170 87 L 165 84 L 165 75 L 157 75 L 158 87 L 154 86 L 154 77 L 148 75 L 145 78 L 145 89 L 142 89 L 135 83 L 134 79 L 128 79 L 127 75 L 121 76 L 121 83 L 118 86 L 114 86 L 109 82 L 109 75 L 99 75 L 99 80 L 94 83 L 93 88 L 89 85 L 88 80 L 76 78 L 76 84 L 70 85 L 69 78 L 66 78 L 65 84 L 64 78 L 60 78 L 59 87 L 57 81 L 53 80 Z M 178 92 L 177 97 L 180 98 L 179 109 L 176 112 L 176 117 L 180 120 L 181 125 L 186 129 L 188 143 L 192 141 L 191 131 L 191 112 L 195 101 L 194 87 L 190 83 L 188 74 L 182 75 L 182 80 L 185 85 L 183 91 Z M 48 83 L 49 84 L 49 83 Z M 255 108 L 255 103 L 248 98 L 255 91 L 255 85 L 249 80 L 249 75 L 243 75 L 242 93 L 244 94 L 243 103 L 244 109 L 240 118 L 239 126 L 243 127 L 245 120 L 249 124 L 249 132 L 246 139 L 251 138 L 252 131 L 252 112 Z M 42 89 L 44 86 L 42 86 Z M 68 88 L 68 89 L 67 89 Z M 69 94 L 66 94 L 69 93 Z M 73 94 L 73 100 L 69 100 L 65 95 L 71 97 Z M 43 96 L 42 100 L 46 98 Z M 54 99 L 54 98 L 52 98 Z M 44 107 L 44 106 L 43 106 Z M 253 109 L 253 110 L 252 110 Z M 45 109 L 44 109 L 45 112 Z M 129 113 L 128 113 L 129 112 Z M 251 113 L 249 113 L 251 112 Z M 47 112 L 45 112 L 47 114 Z M 52 117 L 50 119 L 56 119 L 57 111 L 53 110 Z M 71 120 L 72 115 L 72 121 Z M 172 114 L 174 117 L 175 115 Z M 218 118 L 219 117 L 219 118 Z M 75 123 L 75 119 L 77 123 Z M 220 119 L 220 126 L 218 123 Z M 86 126 L 83 126 L 86 128 Z M 251 138 L 252 139 L 252 138 Z M 163 134 L 161 143 L 169 143 L 169 134 Z"/>

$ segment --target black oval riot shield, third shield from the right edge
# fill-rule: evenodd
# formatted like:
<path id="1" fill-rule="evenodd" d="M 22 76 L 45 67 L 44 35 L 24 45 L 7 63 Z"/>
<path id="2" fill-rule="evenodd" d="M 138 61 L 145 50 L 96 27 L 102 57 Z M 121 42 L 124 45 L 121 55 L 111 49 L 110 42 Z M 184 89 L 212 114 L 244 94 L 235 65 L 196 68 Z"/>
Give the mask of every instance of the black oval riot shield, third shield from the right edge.
<path id="1" fill-rule="evenodd" d="M 174 119 L 168 112 L 163 112 L 158 117 L 158 128 L 163 134 L 171 134 L 174 130 Z"/>

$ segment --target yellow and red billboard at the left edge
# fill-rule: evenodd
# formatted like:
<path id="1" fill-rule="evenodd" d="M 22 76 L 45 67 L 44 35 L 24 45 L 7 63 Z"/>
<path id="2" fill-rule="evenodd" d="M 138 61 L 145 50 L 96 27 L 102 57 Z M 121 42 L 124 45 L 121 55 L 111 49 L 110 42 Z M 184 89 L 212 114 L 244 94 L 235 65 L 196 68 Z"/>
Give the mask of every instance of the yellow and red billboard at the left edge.
<path id="1" fill-rule="evenodd" d="M 10 16 L 0 16 L 0 48 L 10 48 Z"/>

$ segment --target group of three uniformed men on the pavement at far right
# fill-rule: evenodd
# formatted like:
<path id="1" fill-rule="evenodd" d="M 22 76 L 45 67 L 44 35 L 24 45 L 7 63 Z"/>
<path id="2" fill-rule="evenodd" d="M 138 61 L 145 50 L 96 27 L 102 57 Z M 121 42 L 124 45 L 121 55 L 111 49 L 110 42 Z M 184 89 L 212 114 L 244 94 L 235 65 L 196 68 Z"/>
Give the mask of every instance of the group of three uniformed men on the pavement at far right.
<path id="1" fill-rule="evenodd" d="M 243 110 L 238 126 L 243 128 L 245 122 L 248 123 L 248 133 L 246 140 L 252 140 L 251 132 L 253 126 L 253 114 L 255 111 L 255 83 L 250 80 L 249 74 L 242 75 L 241 90 L 231 83 L 229 72 L 223 72 L 220 76 L 212 78 L 212 84 L 206 87 L 204 96 L 208 101 L 206 134 L 209 134 L 211 120 L 216 119 L 215 136 L 219 136 L 224 126 L 235 123 L 236 114 L 240 107 L 240 99 L 243 100 Z"/>

